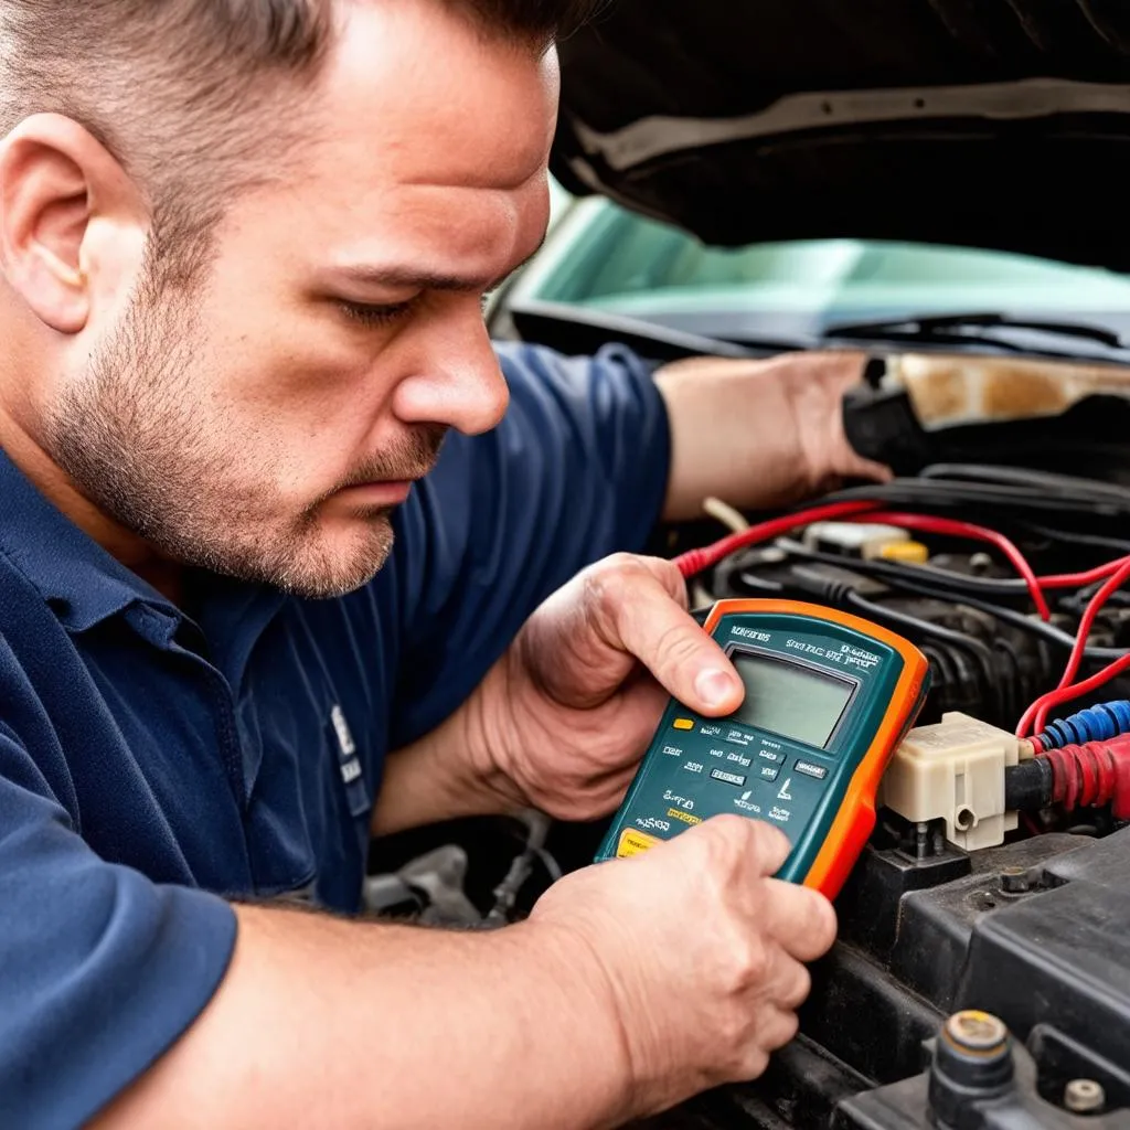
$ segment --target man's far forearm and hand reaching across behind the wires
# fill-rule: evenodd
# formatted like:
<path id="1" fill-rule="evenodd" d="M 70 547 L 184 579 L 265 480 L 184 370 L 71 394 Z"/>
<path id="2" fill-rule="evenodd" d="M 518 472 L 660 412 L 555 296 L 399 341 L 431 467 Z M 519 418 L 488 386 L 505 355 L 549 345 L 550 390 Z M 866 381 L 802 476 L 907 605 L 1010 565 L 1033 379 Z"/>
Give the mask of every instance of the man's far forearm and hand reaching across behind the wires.
<path id="1" fill-rule="evenodd" d="M 843 397 L 862 379 L 864 359 L 859 353 L 695 357 L 659 370 L 672 444 L 663 518 L 701 518 L 711 495 L 754 510 L 811 497 L 845 478 L 889 479 L 844 435 Z"/>

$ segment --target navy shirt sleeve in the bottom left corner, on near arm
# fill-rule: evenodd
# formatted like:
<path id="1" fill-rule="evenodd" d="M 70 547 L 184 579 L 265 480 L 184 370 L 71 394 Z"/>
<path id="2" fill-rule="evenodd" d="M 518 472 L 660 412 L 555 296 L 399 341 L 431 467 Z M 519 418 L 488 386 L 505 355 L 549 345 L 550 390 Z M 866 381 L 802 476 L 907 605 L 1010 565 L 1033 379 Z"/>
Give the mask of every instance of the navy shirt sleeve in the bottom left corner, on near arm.
<path id="1" fill-rule="evenodd" d="M 236 932 L 221 899 L 97 857 L 51 762 L 0 723 L 0 1125 L 27 1130 L 82 1125 L 142 1075 L 210 1000 Z"/>

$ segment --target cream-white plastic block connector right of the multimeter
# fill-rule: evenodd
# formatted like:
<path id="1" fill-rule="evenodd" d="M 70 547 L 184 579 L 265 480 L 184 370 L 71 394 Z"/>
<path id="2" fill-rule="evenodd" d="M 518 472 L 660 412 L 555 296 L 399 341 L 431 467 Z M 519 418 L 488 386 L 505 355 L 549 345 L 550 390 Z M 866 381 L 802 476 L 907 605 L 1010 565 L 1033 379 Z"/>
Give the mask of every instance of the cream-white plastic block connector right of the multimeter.
<path id="1" fill-rule="evenodd" d="M 877 802 L 913 824 L 946 822 L 946 838 L 965 851 L 992 847 L 1017 826 L 1005 811 L 1005 770 L 1020 757 L 1007 730 L 953 711 L 911 732 L 895 750 Z"/>

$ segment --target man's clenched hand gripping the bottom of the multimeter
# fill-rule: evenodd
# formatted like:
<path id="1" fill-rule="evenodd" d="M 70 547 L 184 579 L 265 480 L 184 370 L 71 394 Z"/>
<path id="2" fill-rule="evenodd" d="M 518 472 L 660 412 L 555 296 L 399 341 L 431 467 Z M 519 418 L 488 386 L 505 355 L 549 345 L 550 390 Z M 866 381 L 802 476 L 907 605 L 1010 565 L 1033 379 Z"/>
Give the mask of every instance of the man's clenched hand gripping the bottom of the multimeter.
<path id="1" fill-rule="evenodd" d="M 788 853 L 767 824 L 714 817 L 576 871 L 534 906 L 530 925 L 563 936 L 603 985 L 635 1115 L 756 1078 L 796 1034 L 802 963 L 831 947 L 836 919 L 823 895 L 768 878 Z"/>

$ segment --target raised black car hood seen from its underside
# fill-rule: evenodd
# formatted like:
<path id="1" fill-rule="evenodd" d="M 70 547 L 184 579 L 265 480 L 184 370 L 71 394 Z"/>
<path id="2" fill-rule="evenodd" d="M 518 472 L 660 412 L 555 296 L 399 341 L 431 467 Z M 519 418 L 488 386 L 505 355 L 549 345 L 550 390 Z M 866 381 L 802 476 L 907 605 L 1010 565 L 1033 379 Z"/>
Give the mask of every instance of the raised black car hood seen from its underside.
<path id="1" fill-rule="evenodd" d="M 1130 270 L 1124 0 L 614 0 L 560 58 L 555 175 L 706 243 Z"/>

